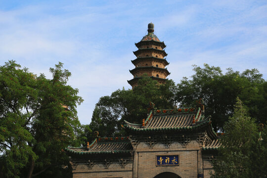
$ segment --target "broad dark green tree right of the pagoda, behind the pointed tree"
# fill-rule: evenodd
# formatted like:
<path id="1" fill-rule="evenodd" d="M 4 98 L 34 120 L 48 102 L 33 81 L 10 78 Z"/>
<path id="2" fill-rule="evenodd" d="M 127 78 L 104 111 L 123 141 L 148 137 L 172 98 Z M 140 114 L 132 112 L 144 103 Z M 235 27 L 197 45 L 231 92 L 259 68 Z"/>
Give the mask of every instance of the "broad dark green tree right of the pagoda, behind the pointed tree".
<path id="1" fill-rule="evenodd" d="M 180 107 L 193 106 L 194 101 L 202 98 L 205 114 L 212 116 L 216 131 L 223 130 L 223 124 L 233 115 L 235 98 L 238 96 L 248 107 L 249 114 L 257 121 L 265 120 L 259 111 L 266 112 L 262 104 L 264 98 L 264 79 L 257 69 L 243 73 L 231 68 L 223 74 L 220 67 L 204 64 L 204 68 L 194 65 L 195 74 L 191 79 L 184 77 L 177 85 L 176 100 Z"/>

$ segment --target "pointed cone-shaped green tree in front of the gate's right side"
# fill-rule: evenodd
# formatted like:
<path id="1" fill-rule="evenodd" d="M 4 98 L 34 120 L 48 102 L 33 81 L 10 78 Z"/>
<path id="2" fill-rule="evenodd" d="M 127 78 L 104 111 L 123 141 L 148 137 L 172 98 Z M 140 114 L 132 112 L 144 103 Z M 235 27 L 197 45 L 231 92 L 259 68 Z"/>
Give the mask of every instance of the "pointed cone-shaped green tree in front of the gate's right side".
<path id="1" fill-rule="evenodd" d="M 266 178 L 266 129 L 260 136 L 255 120 L 248 116 L 239 98 L 224 130 L 211 178 Z"/>

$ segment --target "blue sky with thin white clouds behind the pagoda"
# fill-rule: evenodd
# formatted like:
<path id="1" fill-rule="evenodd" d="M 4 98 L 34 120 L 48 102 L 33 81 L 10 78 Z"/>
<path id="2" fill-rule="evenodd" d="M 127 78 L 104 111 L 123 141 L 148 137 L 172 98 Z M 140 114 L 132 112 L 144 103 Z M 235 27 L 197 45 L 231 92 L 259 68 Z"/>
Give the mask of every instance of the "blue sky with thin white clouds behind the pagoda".
<path id="1" fill-rule="evenodd" d="M 51 78 L 49 68 L 64 63 L 89 124 L 101 96 L 131 89 L 134 43 L 150 22 L 176 83 L 204 63 L 257 68 L 267 79 L 267 0 L 0 0 L 0 65 L 15 60 Z"/>

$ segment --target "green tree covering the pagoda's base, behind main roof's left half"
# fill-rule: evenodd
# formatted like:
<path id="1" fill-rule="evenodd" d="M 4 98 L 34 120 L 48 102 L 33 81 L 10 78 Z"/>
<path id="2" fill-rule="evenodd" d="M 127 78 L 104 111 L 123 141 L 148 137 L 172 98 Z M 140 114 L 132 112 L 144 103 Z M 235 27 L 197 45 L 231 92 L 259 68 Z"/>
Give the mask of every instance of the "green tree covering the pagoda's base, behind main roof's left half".
<path id="1" fill-rule="evenodd" d="M 100 131 L 101 136 L 120 136 L 125 134 L 121 124 L 124 120 L 141 123 L 148 113 L 149 102 L 160 109 L 173 108 L 175 101 L 175 83 L 168 80 L 159 85 L 149 77 L 138 81 L 138 86 L 132 89 L 118 89 L 110 96 L 103 96 L 96 103 L 90 128 Z M 93 135 L 89 137 L 92 139 Z"/>

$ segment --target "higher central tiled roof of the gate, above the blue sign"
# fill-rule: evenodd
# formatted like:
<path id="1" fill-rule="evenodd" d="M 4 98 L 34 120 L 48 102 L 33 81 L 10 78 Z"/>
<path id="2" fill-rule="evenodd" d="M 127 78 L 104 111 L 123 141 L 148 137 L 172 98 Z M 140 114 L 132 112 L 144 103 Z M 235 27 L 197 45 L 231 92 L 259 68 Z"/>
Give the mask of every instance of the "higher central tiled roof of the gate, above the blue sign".
<path id="1" fill-rule="evenodd" d="M 143 124 L 125 121 L 124 127 L 133 131 L 193 130 L 207 126 L 210 122 L 210 118 L 201 116 L 200 108 L 183 108 L 156 110 L 154 114 L 151 111 Z"/>

